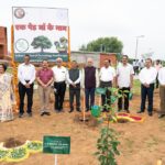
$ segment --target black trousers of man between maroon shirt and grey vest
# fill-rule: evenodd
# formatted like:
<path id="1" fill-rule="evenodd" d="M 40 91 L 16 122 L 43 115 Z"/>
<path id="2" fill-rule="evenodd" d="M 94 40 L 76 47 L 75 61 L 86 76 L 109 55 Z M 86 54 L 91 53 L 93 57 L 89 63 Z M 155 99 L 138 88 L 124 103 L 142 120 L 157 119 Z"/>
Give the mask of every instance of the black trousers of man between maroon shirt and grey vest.
<path id="1" fill-rule="evenodd" d="M 61 111 L 61 110 L 63 110 L 66 84 L 65 84 L 65 81 L 54 82 L 54 88 L 56 89 L 54 108 L 55 108 L 55 110 Z"/>

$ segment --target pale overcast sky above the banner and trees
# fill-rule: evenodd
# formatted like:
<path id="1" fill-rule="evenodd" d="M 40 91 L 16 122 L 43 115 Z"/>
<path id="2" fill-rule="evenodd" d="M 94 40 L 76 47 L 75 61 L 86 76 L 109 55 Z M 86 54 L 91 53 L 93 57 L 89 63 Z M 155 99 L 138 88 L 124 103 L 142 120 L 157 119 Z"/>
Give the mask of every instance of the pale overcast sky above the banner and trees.
<path id="1" fill-rule="evenodd" d="M 100 36 L 117 36 L 123 53 L 134 57 L 136 36 L 144 35 L 139 57 L 154 52 L 153 58 L 165 59 L 165 0 L 4 0 L 0 25 L 12 24 L 12 7 L 67 8 L 73 51 Z"/>

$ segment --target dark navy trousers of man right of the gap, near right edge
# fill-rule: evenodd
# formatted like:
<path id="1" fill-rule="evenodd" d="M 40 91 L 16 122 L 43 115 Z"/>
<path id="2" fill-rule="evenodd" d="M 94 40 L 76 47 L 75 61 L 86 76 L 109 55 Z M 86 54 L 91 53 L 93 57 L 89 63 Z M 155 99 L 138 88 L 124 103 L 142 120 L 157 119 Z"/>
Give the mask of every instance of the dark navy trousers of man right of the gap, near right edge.
<path id="1" fill-rule="evenodd" d="M 153 92 L 154 92 L 154 84 L 151 84 L 148 88 L 141 85 L 141 111 L 145 110 L 145 101 L 146 97 L 148 100 L 147 111 L 153 111 Z"/>

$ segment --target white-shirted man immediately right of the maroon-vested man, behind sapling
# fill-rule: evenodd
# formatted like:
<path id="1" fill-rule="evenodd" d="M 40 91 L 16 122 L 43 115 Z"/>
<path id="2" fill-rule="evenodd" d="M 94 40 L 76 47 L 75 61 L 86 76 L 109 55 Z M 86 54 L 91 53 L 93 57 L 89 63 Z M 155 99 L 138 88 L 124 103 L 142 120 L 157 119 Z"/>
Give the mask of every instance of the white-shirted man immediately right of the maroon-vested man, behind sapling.
<path id="1" fill-rule="evenodd" d="M 110 66 L 110 62 L 108 59 L 105 61 L 105 66 L 101 67 L 100 69 L 100 87 L 101 88 L 107 88 L 106 89 L 106 95 L 101 95 L 101 101 L 102 101 L 102 107 L 103 107 L 103 112 L 108 112 L 109 110 L 106 108 L 106 105 L 111 103 L 110 100 L 110 87 L 112 87 L 114 77 L 116 77 L 116 70 L 113 67 Z"/>

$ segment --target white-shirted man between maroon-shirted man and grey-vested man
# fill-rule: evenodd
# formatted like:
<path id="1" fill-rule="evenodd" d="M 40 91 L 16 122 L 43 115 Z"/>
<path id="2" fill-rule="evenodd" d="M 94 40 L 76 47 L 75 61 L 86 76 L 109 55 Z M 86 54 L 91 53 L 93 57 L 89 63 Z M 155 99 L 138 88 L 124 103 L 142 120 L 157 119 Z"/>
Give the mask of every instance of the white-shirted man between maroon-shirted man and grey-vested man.
<path id="1" fill-rule="evenodd" d="M 66 90 L 66 74 L 67 69 L 62 66 L 63 59 L 57 58 L 56 59 L 56 66 L 52 68 L 54 73 L 54 90 L 55 90 L 55 111 L 62 112 L 63 111 L 63 102 L 65 97 L 65 90 Z"/>

